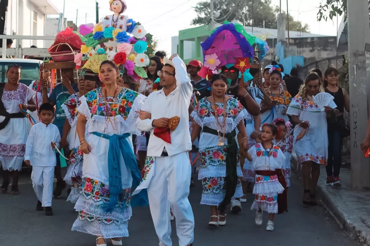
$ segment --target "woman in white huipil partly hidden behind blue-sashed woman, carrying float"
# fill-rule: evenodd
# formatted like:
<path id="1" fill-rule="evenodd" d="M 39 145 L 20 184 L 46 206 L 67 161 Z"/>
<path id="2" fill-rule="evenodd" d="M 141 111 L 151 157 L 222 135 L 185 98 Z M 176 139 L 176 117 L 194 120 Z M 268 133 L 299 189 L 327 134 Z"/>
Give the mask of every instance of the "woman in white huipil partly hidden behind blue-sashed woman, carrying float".
<path id="1" fill-rule="evenodd" d="M 75 203 L 78 197 L 80 197 L 83 163 L 83 152 L 80 149 L 80 139 L 77 136 L 76 129 L 77 109 L 78 106 L 80 106 L 80 97 L 95 88 L 96 78 L 97 77 L 91 75 L 81 77 L 81 79 L 78 80 L 78 93 L 72 94 L 61 106 L 65 112 L 65 116 L 67 117 L 63 127 L 63 141 L 61 141 L 61 148 L 67 147 L 69 150 L 69 160 L 67 161 L 68 168 L 64 181 L 70 185 L 67 201 L 73 203 Z M 86 128 L 85 137 L 87 134 L 88 132 Z"/>

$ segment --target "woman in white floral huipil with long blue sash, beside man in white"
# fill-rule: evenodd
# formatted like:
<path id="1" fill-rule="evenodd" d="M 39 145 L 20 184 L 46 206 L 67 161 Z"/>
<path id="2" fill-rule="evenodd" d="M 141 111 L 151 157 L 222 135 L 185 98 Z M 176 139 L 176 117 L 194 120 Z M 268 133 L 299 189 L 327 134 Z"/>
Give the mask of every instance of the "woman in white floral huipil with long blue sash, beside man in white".
<path id="1" fill-rule="evenodd" d="M 84 152 L 83 185 L 72 230 L 97 236 L 98 245 L 104 245 L 105 238 L 122 245 L 121 237 L 128 236 L 131 187 L 141 180 L 131 134 L 138 132 L 135 111 L 141 109 L 145 97 L 118 87 L 118 76 L 114 62 L 102 62 L 100 77 L 105 87 L 85 94 L 78 107 L 77 133 Z M 89 135 L 85 139 L 86 123 Z"/>

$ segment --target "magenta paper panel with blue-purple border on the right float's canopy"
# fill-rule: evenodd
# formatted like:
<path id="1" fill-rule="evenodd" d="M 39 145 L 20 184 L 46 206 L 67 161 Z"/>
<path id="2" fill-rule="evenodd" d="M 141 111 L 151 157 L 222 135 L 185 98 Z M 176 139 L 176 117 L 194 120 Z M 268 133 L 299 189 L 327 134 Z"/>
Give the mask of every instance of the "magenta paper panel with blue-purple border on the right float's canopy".
<path id="1" fill-rule="evenodd" d="M 235 63 L 236 58 L 253 58 L 252 46 L 243 37 L 232 23 L 222 25 L 211 34 L 202 44 L 203 58 L 205 55 L 216 54 L 220 60 L 218 67 L 229 63 Z"/>

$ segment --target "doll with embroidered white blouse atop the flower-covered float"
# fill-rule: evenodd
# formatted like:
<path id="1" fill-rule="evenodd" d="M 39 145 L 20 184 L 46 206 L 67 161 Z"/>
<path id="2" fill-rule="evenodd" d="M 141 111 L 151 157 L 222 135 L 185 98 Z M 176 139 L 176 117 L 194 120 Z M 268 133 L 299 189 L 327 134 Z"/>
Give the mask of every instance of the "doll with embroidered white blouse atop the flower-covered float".
<path id="1" fill-rule="evenodd" d="M 113 15 L 107 15 L 100 23 L 103 28 L 113 27 L 120 28 L 122 31 L 127 31 L 127 27 L 132 25 L 128 22 L 127 15 L 122 15 L 125 12 L 127 5 L 124 0 L 110 0 L 110 10 L 114 12 Z"/>

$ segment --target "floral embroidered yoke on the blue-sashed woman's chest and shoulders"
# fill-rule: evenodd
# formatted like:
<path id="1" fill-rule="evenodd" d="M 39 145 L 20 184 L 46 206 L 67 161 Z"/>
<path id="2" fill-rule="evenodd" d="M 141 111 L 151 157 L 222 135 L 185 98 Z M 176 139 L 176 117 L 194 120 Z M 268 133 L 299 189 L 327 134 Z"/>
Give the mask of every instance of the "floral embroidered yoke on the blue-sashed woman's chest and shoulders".
<path id="1" fill-rule="evenodd" d="M 85 95 L 86 103 L 91 112 L 91 118 L 94 117 L 94 115 L 106 116 L 105 112 L 109 111 L 110 116 L 114 117 L 116 115 L 121 115 L 124 120 L 127 119 L 137 96 L 138 93 L 136 91 L 122 89 L 117 96 L 116 102 L 113 101 L 113 97 L 108 97 L 108 104 L 105 105 L 101 87 Z"/>

